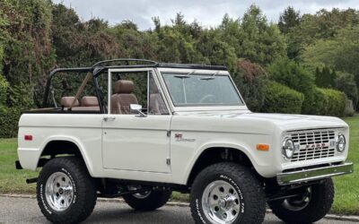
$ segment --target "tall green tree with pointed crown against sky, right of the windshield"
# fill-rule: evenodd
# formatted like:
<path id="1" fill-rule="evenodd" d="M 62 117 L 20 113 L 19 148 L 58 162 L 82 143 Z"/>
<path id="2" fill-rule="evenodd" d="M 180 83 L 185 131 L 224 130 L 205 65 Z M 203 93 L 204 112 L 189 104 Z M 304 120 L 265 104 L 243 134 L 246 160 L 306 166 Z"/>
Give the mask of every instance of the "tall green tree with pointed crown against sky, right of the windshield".
<path id="1" fill-rule="evenodd" d="M 219 27 L 221 39 L 235 49 L 239 58 L 267 65 L 285 56 L 285 39 L 277 26 L 267 22 L 258 6 L 251 5 L 241 20 L 224 15 Z"/>

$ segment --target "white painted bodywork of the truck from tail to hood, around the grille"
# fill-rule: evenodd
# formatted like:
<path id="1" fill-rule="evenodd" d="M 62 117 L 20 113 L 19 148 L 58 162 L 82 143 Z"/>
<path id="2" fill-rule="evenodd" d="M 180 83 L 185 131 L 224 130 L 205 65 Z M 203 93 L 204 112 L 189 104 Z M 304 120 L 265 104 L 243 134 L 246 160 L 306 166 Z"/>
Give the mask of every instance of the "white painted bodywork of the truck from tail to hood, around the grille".
<path id="1" fill-rule="evenodd" d="M 281 142 L 286 131 L 340 127 L 348 141 L 347 125 L 336 117 L 254 114 L 248 110 L 181 112 L 167 117 L 123 115 L 117 117 L 121 125 L 108 122 L 102 130 L 103 116 L 106 115 L 22 115 L 18 149 L 22 168 L 37 168 L 41 152 L 52 140 L 74 142 L 92 177 L 174 184 L 186 184 L 197 158 L 211 147 L 243 151 L 262 177 L 276 177 L 286 168 L 344 161 L 347 155 L 346 149 L 336 157 L 301 162 L 288 162 L 282 156 Z M 166 136 L 167 128 L 171 129 L 171 138 Z M 102 132 L 108 132 L 103 140 L 109 141 L 103 146 Z M 25 134 L 32 134 L 33 141 L 24 141 Z M 175 134 L 194 141 L 176 141 Z M 257 151 L 257 143 L 269 144 L 270 150 Z M 112 144 L 122 147 L 117 152 Z M 166 164 L 167 157 L 171 158 L 171 167 Z"/>

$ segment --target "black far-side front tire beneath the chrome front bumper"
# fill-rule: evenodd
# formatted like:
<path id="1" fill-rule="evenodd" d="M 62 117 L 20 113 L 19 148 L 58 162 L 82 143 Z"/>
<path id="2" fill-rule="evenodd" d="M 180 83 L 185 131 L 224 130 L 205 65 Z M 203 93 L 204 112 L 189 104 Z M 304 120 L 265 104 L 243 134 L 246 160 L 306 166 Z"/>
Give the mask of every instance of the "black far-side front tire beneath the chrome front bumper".
<path id="1" fill-rule="evenodd" d="M 273 213 L 286 223 L 312 223 L 321 220 L 330 210 L 334 199 L 334 187 L 331 178 L 320 184 L 311 185 L 310 197 L 301 203 L 300 201 L 282 200 L 269 202 Z M 304 202 L 304 201 L 303 201 Z"/>

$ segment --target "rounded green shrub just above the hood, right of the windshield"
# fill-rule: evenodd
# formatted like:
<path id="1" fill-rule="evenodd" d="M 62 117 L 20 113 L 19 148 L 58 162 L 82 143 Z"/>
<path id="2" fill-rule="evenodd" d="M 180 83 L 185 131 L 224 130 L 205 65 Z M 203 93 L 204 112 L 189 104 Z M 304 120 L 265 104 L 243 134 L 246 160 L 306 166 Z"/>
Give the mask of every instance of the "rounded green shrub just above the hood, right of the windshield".
<path id="1" fill-rule="evenodd" d="M 277 82 L 268 82 L 262 112 L 300 114 L 304 96 Z"/>

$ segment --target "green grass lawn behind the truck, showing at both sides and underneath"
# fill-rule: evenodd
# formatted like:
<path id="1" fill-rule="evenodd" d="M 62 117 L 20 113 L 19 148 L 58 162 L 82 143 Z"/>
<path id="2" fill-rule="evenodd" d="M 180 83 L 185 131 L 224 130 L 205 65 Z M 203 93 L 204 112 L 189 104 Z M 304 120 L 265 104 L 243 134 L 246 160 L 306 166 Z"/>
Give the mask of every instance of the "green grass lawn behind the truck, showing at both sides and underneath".
<path id="1" fill-rule="evenodd" d="M 348 160 L 355 163 L 355 173 L 334 177 L 336 198 L 332 212 L 359 215 L 359 116 L 345 118 L 350 125 Z M 35 185 L 27 185 L 26 178 L 37 177 L 37 172 L 16 170 L 16 139 L 0 139 L 0 194 L 34 194 Z M 174 193 L 172 200 L 188 201 L 188 194 Z"/>

